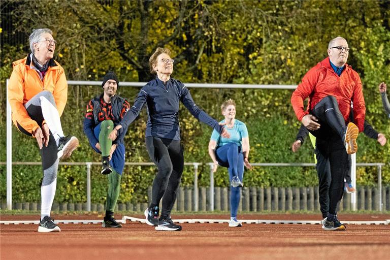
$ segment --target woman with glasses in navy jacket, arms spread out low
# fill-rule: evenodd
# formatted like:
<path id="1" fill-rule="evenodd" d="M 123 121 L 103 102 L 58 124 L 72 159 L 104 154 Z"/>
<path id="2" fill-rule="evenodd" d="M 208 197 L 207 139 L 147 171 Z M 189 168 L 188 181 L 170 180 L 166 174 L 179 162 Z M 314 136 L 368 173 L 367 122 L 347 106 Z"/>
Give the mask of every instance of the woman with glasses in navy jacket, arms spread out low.
<path id="1" fill-rule="evenodd" d="M 150 72 L 157 77 L 140 90 L 133 107 L 113 129 L 109 138 L 114 140 L 117 131 L 121 127 L 128 127 L 140 114 L 142 107 L 147 105 L 146 149 L 158 173 L 153 180 L 151 204 L 145 210 L 146 223 L 156 226 L 156 230 L 180 231 L 181 226 L 171 219 L 184 166 L 178 118 L 180 102 L 194 117 L 213 127 L 221 136 L 229 138 L 230 135 L 194 103 L 183 83 L 171 78 L 174 60 L 170 55 L 169 49 L 157 48 L 149 58 Z M 163 204 L 158 218 L 161 199 Z"/>

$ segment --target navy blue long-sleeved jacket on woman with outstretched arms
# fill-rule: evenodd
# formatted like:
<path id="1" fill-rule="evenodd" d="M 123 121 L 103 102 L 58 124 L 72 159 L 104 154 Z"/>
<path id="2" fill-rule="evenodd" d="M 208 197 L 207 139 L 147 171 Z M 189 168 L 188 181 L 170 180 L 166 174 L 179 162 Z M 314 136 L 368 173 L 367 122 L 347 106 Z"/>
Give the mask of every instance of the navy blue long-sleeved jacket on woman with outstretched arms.
<path id="1" fill-rule="evenodd" d="M 140 90 L 133 107 L 127 111 L 121 122 L 125 129 L 140 114 L 147 104 L 148 122 L 146 137 L 159 137 L 180 140 L 179 104 L 182 102 L 188 111 L 201 122 L 222 132 L 218 121 L 200 109 L 192 100 L 189 90 L 180 81 L 170 78 L 167 85 L 157 77 Z"/>

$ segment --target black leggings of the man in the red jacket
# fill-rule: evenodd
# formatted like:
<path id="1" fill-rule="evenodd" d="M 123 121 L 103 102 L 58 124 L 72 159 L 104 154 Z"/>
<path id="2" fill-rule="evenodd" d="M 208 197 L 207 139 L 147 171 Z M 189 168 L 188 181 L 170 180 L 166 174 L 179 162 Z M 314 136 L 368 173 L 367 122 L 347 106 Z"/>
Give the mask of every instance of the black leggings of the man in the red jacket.
<path id="1" fill-rule="evenodd" d="M 311 111 L 320 128 L 309 131 L 316 137 L 315 154 L 322 217 L 337 214 L 343 197 L 344 177 L 350 171 L 350 160 L 344 147 L 345 120 L 334 96 L 326 96 Z"/>

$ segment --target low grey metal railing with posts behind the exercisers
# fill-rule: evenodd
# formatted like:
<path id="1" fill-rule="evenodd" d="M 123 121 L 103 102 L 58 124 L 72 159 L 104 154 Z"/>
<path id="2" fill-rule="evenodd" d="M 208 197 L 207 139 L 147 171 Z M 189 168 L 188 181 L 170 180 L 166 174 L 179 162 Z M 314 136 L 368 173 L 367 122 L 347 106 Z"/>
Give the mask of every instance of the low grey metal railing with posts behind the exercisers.
<path id="1" fill-rule="evenodd" d="M 25 162 L 25 161 L 15 161 L 13 165 L 41 165 L 41 162 Z M 0 162 L 0 165 L 6 165 L 6 162 Z M 60 162 L 59 165 L 75 165 L 86 167 L 87 175 L 87 211 L 91 210 L 91 166 L 92 165 L 102 165 L 101 162 Z M 154 166 L 153 163 L 125 163 L 127 166 Z M 198 168 L 202 163 L 184 163 L 185 166 L 193 167 L 193 190 L 194 190 L 194 211 L 199 210 L 199 193 L 198 193 Z M 214 210 L 214 173 L 213 173 L 213 163 L 207 163 L 206 165 L 210 166 L 210 187 L 209 187 L 209 198 L 210 198 L 210 211 Z M 311 163 L 254 163 L 251 164 L 254 167 L 315 167 L 315 164 Z M 357 167 L 377 167 L 378 174 L 378 189 L 379 194 L 382 194 L 382 166 L 383 163 L 358 163 Z M 7 190 L 7 194 L 10 196 L 7 200 L 7 208 L 12 209 L 12 190 Z M 382 211 L 382 197 L 379 196 L 379 210 Z M 11 203 L 11 204 L 9 204 Z M 352 202 L 351 202 L 352 203 Z M 353 210 L 356 210 L 356 207 L 352 207 Z"/>

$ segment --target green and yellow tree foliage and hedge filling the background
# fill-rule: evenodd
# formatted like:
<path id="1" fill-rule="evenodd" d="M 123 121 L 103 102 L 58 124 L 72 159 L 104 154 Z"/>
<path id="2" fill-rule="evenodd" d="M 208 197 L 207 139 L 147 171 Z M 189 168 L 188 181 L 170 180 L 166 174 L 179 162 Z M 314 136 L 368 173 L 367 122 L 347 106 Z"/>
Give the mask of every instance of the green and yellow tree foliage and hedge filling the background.
<path id="1" fill-rule="evenodd" d="M 326 57 L 329 40 L 343 36 L 351 48 L 348 63 L 359 72 L 364 85 L 367 120 L 390 137 L 389 119 L 381 106 L 377 85 L 390 83 L 390 2 L 388 1 L 2 1 L 1 83 L 11 74 L 11 62 L 29 52 L 28 35 L 48 27 L 58 41 L 56 60 L 70 80 L 101 80 L 115 71 L 120 81 L 150 80 L 149 56 L 156 47 L 172 50 L 173 77 L 182 82 L 298 84 L 303 75 Z M 20 41 L 20 36 L 23 40 Z M 129 102 L 138 88 L 120 88 Z M 68 106 L 62 115 L 64 132 L 79 137 L 74 161 L 99 161 L 82 133 L 85 105 L 101 88 L 69 86 Z M 312 161 L 310 145 L 294 154 L 299 122 L 291 108 L 290 90 L 191 89 L 194 100 L 214 118 L 222 119 L 220 104 L 237 103 L 237 118 L 250 134 L 250 160 L 256 163 Z M 5 111 L 6 91 L 0 92 Z M 5 161 L 5 113 L 0 115 L 0 160 Z M 181 138 L 185 161 L 210 161 L 207 144 L 211 129 L 180 108 Z M 142 111 L 125 138 L 126 161 L 149 161 L 144 144 L 146 111 Z M 39 161 L 35 141 L 13 128 L 13 160 Z M 26 147 L 29 147 L 28 149 Z M 383 182 L 390 183 L 390 145 L 359 137 L 358 162 L 383 162 Z M 92 168 L 93 170 L 94 168 Z M 1 193 L 5 198 L 5 167 L 0 167 Z M 95 202 L 105 199 L 107 181 L 93 170 Z M 154 167 L 126 167 L 120 200 L 145 201 Z M 208 183 L 208 166 L 199 170 L 201 185 Z M 56 200 L 85 201 L 85 169 L 60 167 Z M 26 176 L 31 176 L 26 178 Z M 227 185 L 226 170 L 219 169 L 216 185 Z M 17 200 L 39 200 L 38 167 L 15 167 L 20 192 Z M 28 181 L 27 181 L 28 179 Z M 182 185 L 191 185 L 193 172 L 185 167 Z M 255 168 L 245 173 L 246 186 L 315 185 L 311 168 Z M 358 168 L 358 183 L 373 185 L 376 169 Z M 28 185 L 32 191 L 25 191 Z M 34 188 L 33 188 L 34 187 Z M 83 193 L 84 192 L 84 193 Z M 27 194 L 28 193 L 28 194 Z M 32 195 L 31 195 L 32 194 Z M 28 197 L 29 196 L 29 197 Z"/>

